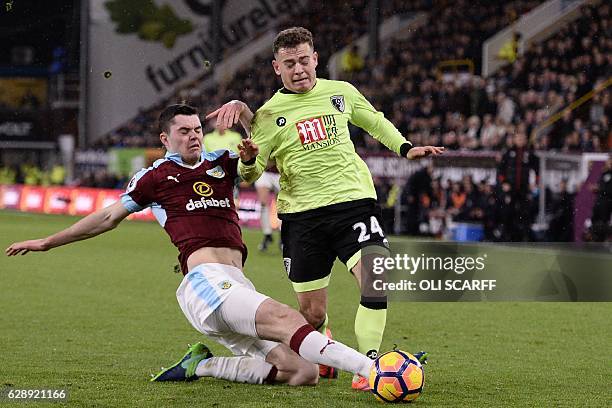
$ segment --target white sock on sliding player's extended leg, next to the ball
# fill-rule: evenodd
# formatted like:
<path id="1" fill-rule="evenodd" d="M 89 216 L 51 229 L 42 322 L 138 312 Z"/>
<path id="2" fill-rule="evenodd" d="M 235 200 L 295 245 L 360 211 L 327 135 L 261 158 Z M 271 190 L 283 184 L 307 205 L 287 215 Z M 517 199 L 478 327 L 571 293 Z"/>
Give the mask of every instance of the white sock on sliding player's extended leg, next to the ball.
<path id="1" fill-rule="evenodd" d="M 310 332 L 304 337 L 299 354 L 311 363 L 328 365 L 365 378 L 370 377 L 372 360 L 318 331 Z"/>

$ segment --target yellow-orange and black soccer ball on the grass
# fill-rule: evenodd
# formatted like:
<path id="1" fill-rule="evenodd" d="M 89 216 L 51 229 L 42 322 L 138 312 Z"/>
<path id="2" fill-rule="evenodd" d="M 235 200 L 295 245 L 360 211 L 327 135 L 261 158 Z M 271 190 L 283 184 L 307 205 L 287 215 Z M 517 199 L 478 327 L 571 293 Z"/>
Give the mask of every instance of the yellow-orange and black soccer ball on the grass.
<path id="1" fill-rule="evenodd" d="M 379 401 L 411 402 L 423 391 L 421 363 L 410 353 L 389 351 L 378 357 L 370 371 L 370 389 Z"/>

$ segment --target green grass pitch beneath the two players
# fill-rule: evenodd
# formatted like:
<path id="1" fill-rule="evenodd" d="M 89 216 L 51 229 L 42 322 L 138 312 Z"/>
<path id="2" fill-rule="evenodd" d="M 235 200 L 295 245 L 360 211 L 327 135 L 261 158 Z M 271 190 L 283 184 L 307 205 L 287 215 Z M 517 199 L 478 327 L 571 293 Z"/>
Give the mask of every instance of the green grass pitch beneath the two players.
<path id="1" fill-rule="evenodd" d="M 0 212 L 0 246 L 42 237 L 73 217 Z M 247 276 L 295 306 L 275 247 L 244 232 Z M 201 379 L 150 383 L 203 338 L 174 295 L 176 250 L 157 224 L 125 222 L 103 236 L 24 257 L 0 257 L 0 388 L 68 388 L 68 406 L 379 406 L 350 389 L 350 376 L 316 387 L 258 386 Z M 358 290 L 334 269 L 334 336 L 355 346 Z M 417 406 L 612 406 L 611 303 L 391 303 L 383 350 L 431 352 Z M 5 401 L 0 401 L 4 405 Z M 40 403 L 16 406 L 40 406 Z M 61 405 L 61 404 L 58 404 Z M 58 406 L 54 405 L 54 406 Z"/>

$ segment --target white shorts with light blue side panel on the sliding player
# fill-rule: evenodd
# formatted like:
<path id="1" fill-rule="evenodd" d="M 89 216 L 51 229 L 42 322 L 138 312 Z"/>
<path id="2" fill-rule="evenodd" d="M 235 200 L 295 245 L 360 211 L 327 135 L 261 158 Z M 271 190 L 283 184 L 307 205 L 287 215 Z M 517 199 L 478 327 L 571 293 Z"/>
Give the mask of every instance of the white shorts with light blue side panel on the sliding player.
<path id="1" fill-rule="evenodd" d="M 255 313 L 268 296 L 257 292 L 236 267 L 217 263 L 196 266 L 183 278 L 176 298 L 197 331 L 234 355 L 265 359 L 279 345 L 257 337 Z"/>

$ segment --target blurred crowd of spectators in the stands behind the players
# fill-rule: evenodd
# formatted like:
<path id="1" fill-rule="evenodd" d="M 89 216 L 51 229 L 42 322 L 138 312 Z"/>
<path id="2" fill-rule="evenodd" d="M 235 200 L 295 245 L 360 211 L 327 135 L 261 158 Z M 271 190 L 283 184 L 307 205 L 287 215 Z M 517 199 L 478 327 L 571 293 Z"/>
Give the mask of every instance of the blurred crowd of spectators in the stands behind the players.
<path id="1" fill-rule="evenodd" d="M 299 21 L 312 30 L 320 77 L 328 76 L 330 56 L 353 44 L 368 26 L 367 2 L 331 3 L 334 5 L 329 1 L 312 2 L 299 20 L 293 16 L 277 27 L 287 28 Z M 611 92 L 597 92 L 577 109 L 566 110 L 548 128 L 539 129 L 538 125 L 612 77 L 610 5 L 603 2 L 583 7 L 578 19 L 543 42 L 521 44 L 517 35 L 516 52 L 500 54 L 507 64 L 489 78 L 463 75 L 463 71 L 441 72 L 438 67 L 440 61 L 469 59 L 474 73 L 479 73 L 483 42 L 541 3 L 385 1 L 381 2 L 383 19 L 422 11 L 428 13 L 427 21 L 412 36 L 381 44 L 378 56 L 365 55 L 357 46 L 344 51 L 340 79 L 353 83 L 413 144 L 444 146 L 451 151 L 495 151 L 498 156 L 494 183 L 471 176 L 460 181 L 435 178 L 431 166 L 423 167 L 402 185 L 376 178 L 379 202 L 389 223 L 387 230 L 393 229 L 399 200 L 405 215 L 401 218 L 403 233 L 442 236 L 450 222 L 467 221 L 481 223 L 486 240 L 534 240 L 530 226 L 536 219 L 538 195 L 546 194 L 551 214 L 546 239 L 573 239 L 574 192 L 566 182 L 561 183 L 559 191 L 539 191 L 534 151 L 609 152 Z M 324 12 L 330 7 L 333 14 Z M 214 89 L 198 82 L 190 84 L 142 110 L 88 148 L 158 147 L 156 120 L 169 103 L 187 102 L 205 113 L 240 99 L 255 110 L 281 86 L 270 59 L 270 55 L 256 57 L 230 81 Z M 209 132 L 214 123 L 205 126 Z M 351 137 L 359 152 L 385 150 L 356 127 L 351 129 Z M 604 221 L 606 215 L 607 220 L 610 218 L 610 161 L 606 166 L 596 190 L 595 222 L 597 217 Z M 50 172 L 32 165 L 2 168 L 0 183 L 61 184 L 60 168 L 55 166 Z M 106 169 L 90 169 L 77 175 L 73 184 L 121 188 L 125 181 Z M 591 239 L 609 236 L 610 231 L 602 228 L 595 228 Z"/>

